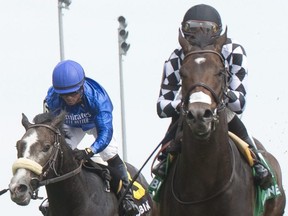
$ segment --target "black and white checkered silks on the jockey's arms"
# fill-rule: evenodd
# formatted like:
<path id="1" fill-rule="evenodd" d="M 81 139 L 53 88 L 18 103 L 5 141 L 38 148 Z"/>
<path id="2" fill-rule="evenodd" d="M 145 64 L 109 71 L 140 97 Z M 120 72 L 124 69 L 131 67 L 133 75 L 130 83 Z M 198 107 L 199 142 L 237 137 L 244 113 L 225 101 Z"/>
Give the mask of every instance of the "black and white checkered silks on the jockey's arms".
<path id="1" fill-rule="evenodd" d="M 246 105 L 247 56 L 244 48 L 235 40 L 227 39 L 222 48 L 222 56 L 229 69 L 228 91 L 235 99 L 229 99 L 227 107 L 233 113 L 241 114 Z M 177 106 L 181 102 L 181 67 L 184 54 L 181 48 L 175 49 L 164 63 L 161 89 L 157 101 L 157 113 L 160 118 L 173 117 L 178 114 Z M 228 116 L 229 117 L 229 116 Z M 228 121 L 231 120 L 229 117 Z"/>

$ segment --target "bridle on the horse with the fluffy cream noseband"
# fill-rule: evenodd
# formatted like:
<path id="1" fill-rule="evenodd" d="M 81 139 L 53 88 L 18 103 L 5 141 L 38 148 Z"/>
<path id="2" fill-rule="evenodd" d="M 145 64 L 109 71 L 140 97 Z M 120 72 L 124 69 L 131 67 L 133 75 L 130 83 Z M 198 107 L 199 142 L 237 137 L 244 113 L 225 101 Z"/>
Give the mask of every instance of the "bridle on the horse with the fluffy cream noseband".
<path id="1" fill-rule="evenodd" d="M 47 167 L 47 169 L 45 171 L 42 171 L 42 173 L 40 175 L 38 175 L 36 173 L 39 176 L 39 178 L 31 179 L 30 186 L 31 186 L 32 191 L 33 191 L 33 194 L 31 196 L 32 199 L 38 198 L 38 188 L 39 187 L 68 179 L 68 178 L 80 173 L 81 168 L 82 168 L 82 163 L 81 163 L 76 169 L 72 170 L 71 172 L 65 173 L 63 175 L 59 174 L 57 172 L 57 169 L 55 166 L 56 166 L 56 161 L 57 161 L 59 154 L 60 154 L 60 158 L 61 158 L 60 168 L 63 165 L 63 151 L 62 151 L 61 145 L 60 145 L 61 132 L 58 128 L 53 127 L 51 125 L 46 125 L 46 124 L 32 124 L 27 128 L 27 130 L 31 129 L 31 128 L 36 128 L 36 127 L 45 127 L 47 129 L 51 130 L 52 132 L 54 132 L 55 140 L 54 140 L 54 144 L 53 144 L 53 153 L 51 154 L 51 156 L 50 156 L 49 160 L 46 162 L 46 164 L 44 166 L 42 166 L 42 169 L 45 167 Z M 27 158 L 25 158 L 25 160 L 31 161 L 30 159 L 27 159 Z M 37 164 L 37 162 L 33 161 L 33 164 L 35 164 L 35 163 Z M 38 165 L 41 166 L 40 164 L 38 164 Z M 28 167 L 24 167 L 24 168 L 29 169 Z M 47 176 L 47 174 L 50 170 L 53 170 L 53 172 L 55 173 L 55 175 L 57 177 L 43 180 L 43 178 L 45 178 Z M 33 172 L 33 170 L 31 170 L 31 171 Z"/>

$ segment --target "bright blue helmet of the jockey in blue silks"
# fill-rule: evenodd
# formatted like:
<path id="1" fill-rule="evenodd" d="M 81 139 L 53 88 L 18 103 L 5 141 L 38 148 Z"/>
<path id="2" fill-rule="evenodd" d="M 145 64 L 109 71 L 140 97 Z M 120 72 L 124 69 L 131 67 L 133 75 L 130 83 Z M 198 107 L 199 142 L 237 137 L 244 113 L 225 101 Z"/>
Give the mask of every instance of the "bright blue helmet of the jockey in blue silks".
<path id="1" fill-rule="evenodd" d="M 84 81 L 85 72 L 82 66 L 75 61 L 61 61 L 53 70 L 53 87 L 58 94 L 76 92 L 83 86 Z"/>

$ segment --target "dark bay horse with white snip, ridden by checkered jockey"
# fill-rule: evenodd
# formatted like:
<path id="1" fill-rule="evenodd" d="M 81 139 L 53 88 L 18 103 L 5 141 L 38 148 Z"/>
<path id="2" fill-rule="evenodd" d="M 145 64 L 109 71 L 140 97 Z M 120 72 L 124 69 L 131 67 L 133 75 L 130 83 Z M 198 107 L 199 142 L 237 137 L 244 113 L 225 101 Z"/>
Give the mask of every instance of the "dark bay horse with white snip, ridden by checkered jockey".
<path id="1" fill-rule="evenodd" d="M 224 105 L 228 72 L 220 54 L 226 32 L 218 37 L 199 32 L 194 44 L 179 32 L 185 55 L 180 68 L 183 98 L 179 124 L 183 135 L 181 151 L 160 189 L 161 216 L 256 215 L 252 168 L 228 136 Z M 278 184 L 274 189 L 281 193 L 266 201 L 263 215 L 283 215 L 280 166 L 258 140 L 255 143 L 274 170 Z"/>

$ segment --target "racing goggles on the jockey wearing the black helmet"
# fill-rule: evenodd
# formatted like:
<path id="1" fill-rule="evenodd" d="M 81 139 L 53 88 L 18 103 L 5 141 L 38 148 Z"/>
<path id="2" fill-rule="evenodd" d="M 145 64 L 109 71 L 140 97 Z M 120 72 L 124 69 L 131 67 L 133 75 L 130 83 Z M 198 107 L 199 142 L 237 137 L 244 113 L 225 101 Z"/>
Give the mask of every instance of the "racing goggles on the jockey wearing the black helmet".
<path id="1" fill-rule="evenodd" d="M 201 28 L 206 29 L 207 31 L 211 31 L 213 34 L 220 30 L 216 23 L 210 21 L 188 20 L 182 23 L 182 32 L 185 35 L 194 34 Z"/>

